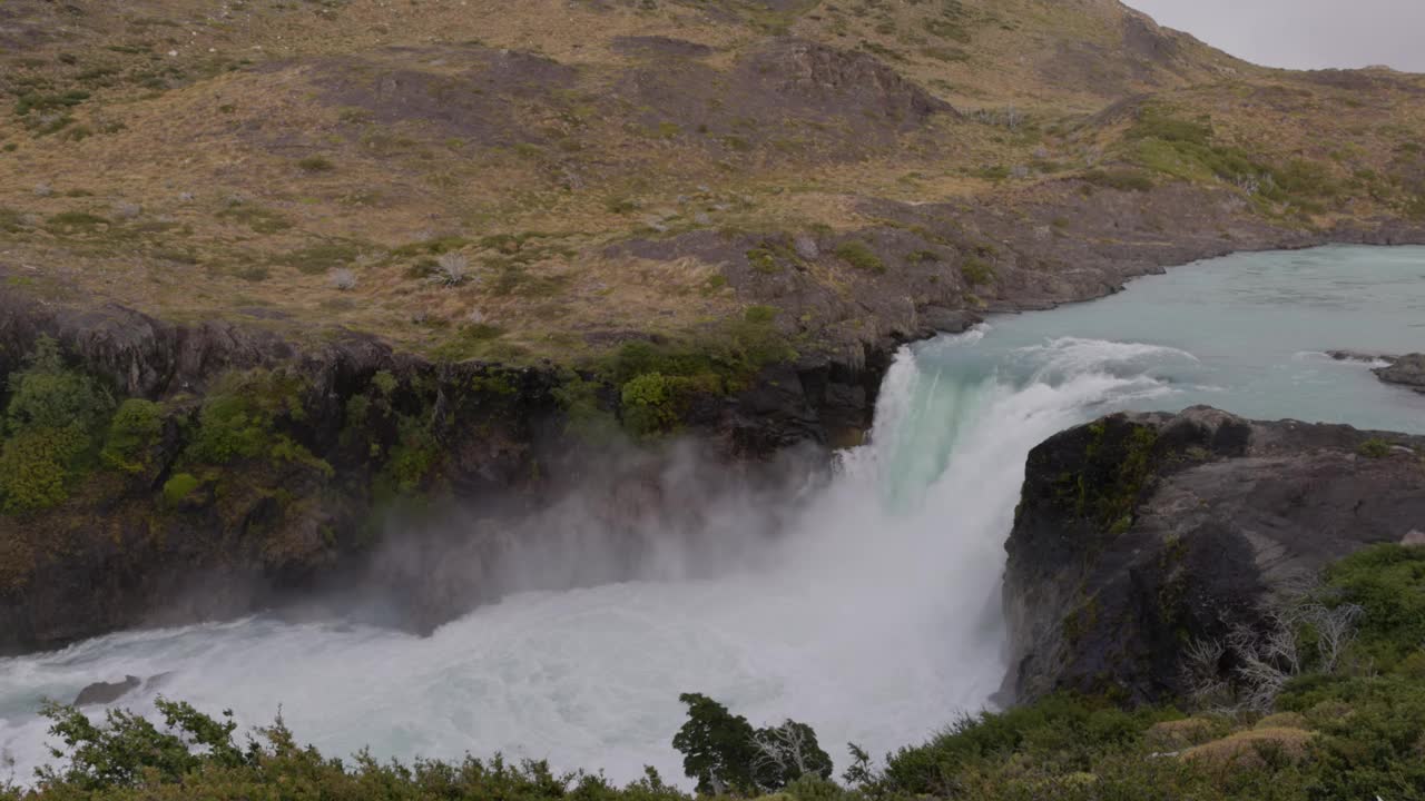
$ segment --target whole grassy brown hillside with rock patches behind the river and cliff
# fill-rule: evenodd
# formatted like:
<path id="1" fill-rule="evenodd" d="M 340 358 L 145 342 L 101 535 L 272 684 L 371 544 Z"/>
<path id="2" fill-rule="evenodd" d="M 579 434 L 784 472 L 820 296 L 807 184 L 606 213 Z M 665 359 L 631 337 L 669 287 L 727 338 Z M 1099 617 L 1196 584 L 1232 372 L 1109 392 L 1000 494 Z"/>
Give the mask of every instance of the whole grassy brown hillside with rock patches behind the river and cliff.
<path id="1" fill-rule="evenodd" d="M 1113 0 L 19 0 L 0 46 L 7 292 L 299 342 L 839 352 L 1425 219 L 1425 80 Z"/>

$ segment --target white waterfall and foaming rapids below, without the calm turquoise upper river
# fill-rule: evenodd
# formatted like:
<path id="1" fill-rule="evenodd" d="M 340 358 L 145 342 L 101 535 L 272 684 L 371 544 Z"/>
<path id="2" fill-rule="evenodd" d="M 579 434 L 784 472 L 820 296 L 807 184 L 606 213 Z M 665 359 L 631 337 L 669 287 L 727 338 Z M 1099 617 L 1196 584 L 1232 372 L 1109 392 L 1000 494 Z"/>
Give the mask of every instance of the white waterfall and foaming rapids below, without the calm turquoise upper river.
<path id="1" fill-rule="evenodd" d="M 1059 339 L 976 358 L 983 331 L 906 349 L 872 443 L 762 547 L 712 580 L 524 593 L 429 639 L 266 619 L 135 631 L 0 660 L 0 750 L 48 758 L 41 697 L 171 673 L 162 694 L 245 724 L 278 710 L 328 754 L 549 758 L 613 780 L 681 775 L 678 694 L 752 721 L 804 720 L 844 755 L 915 743 L 988 704 L 1003 678 L 1003 542 L 1029 449 L 1136 399 L 1191 356 Z M 151 693 L 121 703 L 147 711 Z M 844 761 L 844 760 L 842 760 Z"/>

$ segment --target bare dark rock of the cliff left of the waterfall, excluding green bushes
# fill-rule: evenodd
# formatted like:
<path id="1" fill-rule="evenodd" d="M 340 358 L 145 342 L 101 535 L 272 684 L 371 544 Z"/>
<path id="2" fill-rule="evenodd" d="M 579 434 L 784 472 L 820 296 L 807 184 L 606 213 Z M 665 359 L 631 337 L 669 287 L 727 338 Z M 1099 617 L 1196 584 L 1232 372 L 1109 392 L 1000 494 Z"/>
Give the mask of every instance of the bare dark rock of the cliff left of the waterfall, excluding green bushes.
<path id="1" fill-rule="evenodd" d="M 145 472 L 95 475 L 97 483 L 58 507 L 0 515 L 0 653 L 134 626 L 311 606 L 314 596 L 356 586 L 393 599 L 359 599 L 399 607 L 402 619 L 393 623 L 429 630 L 503 591 L 526 589 L 470 580 L 502 559 L 507 537 L 500 532 L 510 524 L 497 520 L 526 522 L 561 497 L 589 493 L 583 500 L 607 517 L 606 529 L 631 530 L 630 513 L 620 507 L 630 486 L 651 486 L 657 509 L 640 510 L 647 515 L 698 513 L 660 487 L 665 470 L 657 453 L 651 463 L 631 459 L 628 448 L 586 442 L 573 429 L 559 399 L 570 373 L 554 366 L 435 365 L 359 335 L 298 349 L 225 322 L 184 326 L 120 306 L 74 311 L 0 295 L 0 375 L 20 369 L 41 335 L 56 338 L 74 366 L 117 398 L 167 400 L 168 419 Z M 815 467 L 825 443 L 854 439 L 869 426 L 891 358 L 891 349 L 807 356 L 770 365 L 738 395 L 693 399 L 684 425 L 704 445 L 698 465 L 737 476 L 765 462 L 772 476 L 752 483 L 768 486 L 784 469 Z M 302 389 L 291 403 L 301 415 L 281 419 L 272 435 L 323 467 L 302 459 L 238 460 L 202 479 L 211 487 L 165 502 L 165 482 L 191 470 L 185 438 L 198 428 L 204 395 L 225 373 L 254 369 L 298 379 Z M 388 391 L 378 388 L 378 375 L 390 382 Z M 618 388 L 590 385 L 598 406 L 590 410 L 617 419 Z M 389 496 L 393 475 L 388 456 L 406 445 L 409 426 L 426 432 L 426 448 L 437 452 L 420 476 L 420 500 L 449 505 L 440 515 L 482 519 L 462 527 L 459 536 L 469 542 L 452 543 L 437 524 L 420 539 L 419 522 L 395 526 L 382 515 L 389 497 L 383 502 L 380 493 Z M 811 458 L 787 467 L 772 460 L 798 445 L 809 445 Z M 589 492 L 590 476 L 601 477 L 597 492 Z M 647 546 L 624 539 L 630 549 Z M 469 559 L 447 564 L 452 549 Z M 409 557 L 405 569 L 380 570 L 375 563 L 392 552 Z M 627 556 L 637 562 L 637 553 Z M 436 569 L 450 576 L 449 586 L 430 580 Z M 611 577 L 621 579 L 627 576 Z"/>

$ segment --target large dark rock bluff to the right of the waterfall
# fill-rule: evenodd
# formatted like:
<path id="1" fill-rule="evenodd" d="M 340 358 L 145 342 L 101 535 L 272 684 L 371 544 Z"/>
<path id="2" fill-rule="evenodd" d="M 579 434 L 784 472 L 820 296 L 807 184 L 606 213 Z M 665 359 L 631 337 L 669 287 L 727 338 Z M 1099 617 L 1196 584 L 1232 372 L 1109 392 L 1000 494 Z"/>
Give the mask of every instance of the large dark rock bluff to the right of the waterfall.
<path id="1" fill-rule="evenodd" d="M 1398 448 L 1365 456 L 1377 438 Z M 1261 623 L 1274 591 L 1364 546 L 1409 540 L 1425 520 L 1421 453 L 1425 438 L 1207 408 L 1049 439 L 1006 546 L 1005 691 L 1181 696 L 1194 639 Z"/>

